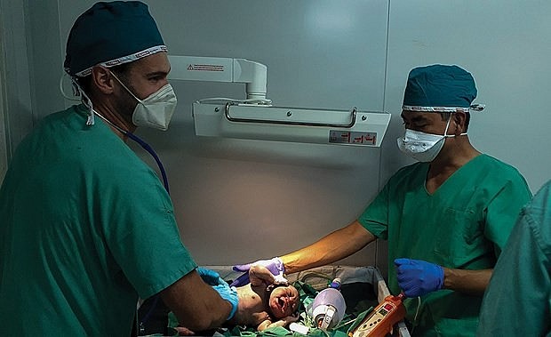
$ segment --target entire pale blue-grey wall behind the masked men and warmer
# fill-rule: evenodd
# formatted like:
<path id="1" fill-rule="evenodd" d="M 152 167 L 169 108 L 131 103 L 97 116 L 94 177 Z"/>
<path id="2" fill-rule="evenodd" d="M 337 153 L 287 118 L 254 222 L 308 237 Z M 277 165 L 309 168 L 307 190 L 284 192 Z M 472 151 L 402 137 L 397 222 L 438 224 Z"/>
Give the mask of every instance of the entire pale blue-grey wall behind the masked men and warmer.
<path id="1" fill-rule="evenodd" d="M 275 105 L 357 106 L 393 115 L 381 148 L 198 139 L 191 102 L 244 98 L 244 87 L 173 83 L 179 108 L 170 130 L 142 130 L 140 135 L 164 161 L 182 239 L 200 264 L 286 253 L 353 221 L 388 177 L 411 163 L 397 150 L 395 138 L 403 132 L 399 114 L 405 79 L 419 65 L 451 63 L 470 70 L 479 89 L 476 102 L 487 107 L 472 116 L 469 135 L 475 147 L 517 167 L 533 191 L 551 178 L 544 132 L 551 122 L 551 2 L 147 3 L 172 54 L 266 64 L 268 98 Z M 63 106 L 55 88 L 68 30 L 93 1 L 46 2 L 44 10 L 25 4 L 28 31 L 20 35 L 32 45 L 28 68 L 34 70 L 28 104 L 44 116 Z M 29 127 L 14 128 L 24 133 Z M 384 247 L 370 245 L 343 263 L 377 264 L 385 272 Z"/>

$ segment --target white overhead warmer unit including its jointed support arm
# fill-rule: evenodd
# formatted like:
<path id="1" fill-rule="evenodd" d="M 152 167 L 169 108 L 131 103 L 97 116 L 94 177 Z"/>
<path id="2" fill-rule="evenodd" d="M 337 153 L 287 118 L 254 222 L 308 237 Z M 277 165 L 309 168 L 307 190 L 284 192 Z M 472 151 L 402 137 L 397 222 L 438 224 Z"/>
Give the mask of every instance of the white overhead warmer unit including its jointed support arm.
<path id="1" fill-rule="evenodd" d="M 197 136 L 379 147 L 386 112 L 274 107 L 266 99 L 267 67 L 244 59 L 169 56 L 170 79 L 244 83 L 246 100 L 193 103 Z"/>

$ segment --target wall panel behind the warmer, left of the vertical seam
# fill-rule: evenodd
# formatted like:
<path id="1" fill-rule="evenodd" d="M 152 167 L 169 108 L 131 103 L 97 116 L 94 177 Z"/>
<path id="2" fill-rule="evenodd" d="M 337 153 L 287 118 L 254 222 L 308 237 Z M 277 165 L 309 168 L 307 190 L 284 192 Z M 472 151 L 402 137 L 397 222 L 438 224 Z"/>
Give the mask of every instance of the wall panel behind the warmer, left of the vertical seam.
<path id="1" fill-rule="evenodd" d="M 63 29 L 92 4 L 61 3 Z M 148 4 L 172 54 L 266 64 L 268 98 L 277 106 L 383 109 L 387 2 Z M 199 263 L 231 264 L 299 248 L 353 221 L 378 191 L 379 148 L 197 139 L 191 103 L 244 98 L 244 85 L 172 85 L 179 108 L 170 130 L 140 135 L 164 161 L 182 239 Z M 347 263 L 374 261 L 371 246 Z"/>

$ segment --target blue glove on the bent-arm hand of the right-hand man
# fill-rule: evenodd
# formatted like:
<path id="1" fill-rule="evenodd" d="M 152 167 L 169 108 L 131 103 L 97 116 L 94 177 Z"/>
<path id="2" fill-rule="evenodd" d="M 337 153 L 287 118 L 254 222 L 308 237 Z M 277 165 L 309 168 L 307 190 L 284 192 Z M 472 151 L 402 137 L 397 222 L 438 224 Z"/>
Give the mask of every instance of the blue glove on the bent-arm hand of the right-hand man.
<path id="1" fill-rule="evenodd" d="M 407 297 L 422 296 L 442 289 L 443 268 L 427 261 L 396 259 L 398 285 Z"/>

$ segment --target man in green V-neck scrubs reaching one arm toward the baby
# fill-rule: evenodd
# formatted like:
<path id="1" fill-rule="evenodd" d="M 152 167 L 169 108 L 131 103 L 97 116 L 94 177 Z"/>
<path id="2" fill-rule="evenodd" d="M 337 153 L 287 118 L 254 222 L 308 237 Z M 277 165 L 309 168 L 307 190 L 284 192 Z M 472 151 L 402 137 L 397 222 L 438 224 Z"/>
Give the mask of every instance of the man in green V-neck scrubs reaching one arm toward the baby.
<path id="1" fill-rule="evenodd" d="M 467 136 L 475 80 L 457 66 L 411 70 L 398 147 L 419 163 L 387 181 L 360 217 L 305 248 L 257 261 L 293 273 L 388 241 L 388 284 L 403 292 L 414 335 L 473 336 L 483 292 L 521 207 L 523 176 L 475 149 Z M 236 266 L 245 270 L 249 264 Z"/>

